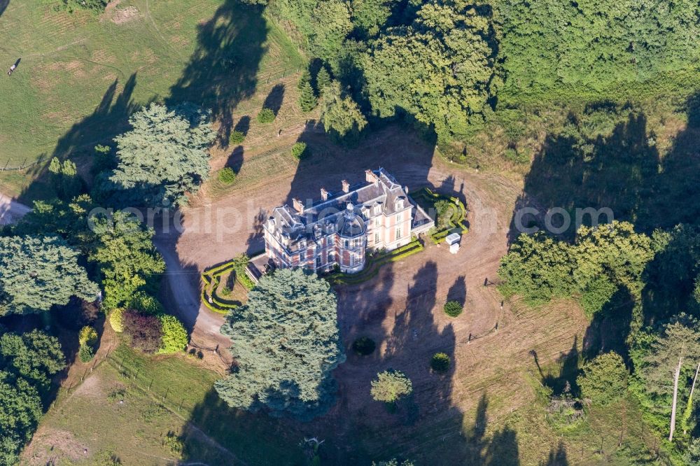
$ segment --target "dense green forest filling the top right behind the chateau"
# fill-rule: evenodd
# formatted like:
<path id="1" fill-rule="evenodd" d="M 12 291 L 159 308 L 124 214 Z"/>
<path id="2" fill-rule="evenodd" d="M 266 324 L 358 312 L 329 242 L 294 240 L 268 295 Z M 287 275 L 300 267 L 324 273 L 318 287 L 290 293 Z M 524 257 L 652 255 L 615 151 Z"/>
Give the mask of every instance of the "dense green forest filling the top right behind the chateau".
<path id="1" fill-rule="evenodd" d="M 269 0 L 267 13 L 314 57 L 314 83 L 325 69 L 360 109 L 355 132 L 363 119 L 405 118 L 447 143 L 498 112 L 682 99 L 698 84 L 689 0 Z"/>

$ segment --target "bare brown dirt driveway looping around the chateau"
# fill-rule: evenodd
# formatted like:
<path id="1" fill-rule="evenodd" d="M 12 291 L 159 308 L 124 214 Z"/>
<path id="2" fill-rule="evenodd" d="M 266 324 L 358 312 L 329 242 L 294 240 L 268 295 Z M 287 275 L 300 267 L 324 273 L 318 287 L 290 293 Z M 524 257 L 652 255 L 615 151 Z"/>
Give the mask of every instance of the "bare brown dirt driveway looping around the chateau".
<path id="1" fill-rule="evenodd" d="M 158 236 L 156 244 L 168 265 L 167 278 L 174 302 L 179 306 L 181 317 L 194 323 L 193 334 L 197 338 L 209 341 L 209 346 L 223 343 L 218 335 L 218 326 L 223 318 L 197 305 L 199 271 L 246 250 L 260 248 L 262 242 L 255 224 L 259 225 L 260 218 L 263 218 L 261 213 L 287 202 L 290 195 L 318 197 L 317 191 L 321 186 L 337 190 L 342 179 L 360 181 L 365 169 L 379 165 L 410 189 L 430 185 L 463 197 L 468 204 L 472 228 L 464 236 L 463 248 L 457 255 L 450 255 L 447 248 L 430 246 L 424 253 L 393 265 L 391 286 L 386 285 L 388 278 L 380 274 L 377 279 L 351 293 L 359 292 L 367 302 L 380 299 L 388 303 L 390 309 L 387 313 L 390 313 L 405 307 L 407 289 L 413 285 L 414 275 L 421 265 L 431 262 L 435 264 L 435 275 L 438 277 L 433 292 L 440 302 L 444 303 L 448 291 L 458 280 L 463 281 L 468 290 L 466 299 L 474 319 L 470 320 L 469 328 L 456 329 L 460 330 L 460 334 L 464 332 L 461 338 L 468 339 L 470 333 L 475 336 L 496 325 L 501 312 L 500 298 L 493 288 L 484 288 L 483 283 L 487 277 L 495 280 L 500 257 L 507 250 L 510 216 L 520 187 L 500 176 L 470 173 L 433 157 L 431 148 L 426 148 L 421 141 L 407 138 L 406 134 L 384 132 L 366 144 L 344 155 L 347 162 L 344 160 L 342 164 L 334 161 L 330 155 L 325 160 L 314 157 L 316 160 L 308 165 L 275 174 L 269 180 L 263 179 L 253 186 L 246 185 L 244 189 L 234 190 L 221 199 L 209 203 L 200 201 L 199 205 L 195 204 L 184 212 L 185 230 L 181 235 Z M 386 288 L 385 296 L 374 297 L 372 290 L 380 282 Z M 362 313 L 351 310 L 363 303 L 342 298 L 339 309 L 342 330 L 352 335 L 356 329 L 365 327 Z M 344 306 L 344 302 L 348 304 Z M 435 306 L 437 304 L 442 306 L 440 303 L 435 303 Z M 384 325 L 391 326 L 392 323 L 387 320 Z"/>

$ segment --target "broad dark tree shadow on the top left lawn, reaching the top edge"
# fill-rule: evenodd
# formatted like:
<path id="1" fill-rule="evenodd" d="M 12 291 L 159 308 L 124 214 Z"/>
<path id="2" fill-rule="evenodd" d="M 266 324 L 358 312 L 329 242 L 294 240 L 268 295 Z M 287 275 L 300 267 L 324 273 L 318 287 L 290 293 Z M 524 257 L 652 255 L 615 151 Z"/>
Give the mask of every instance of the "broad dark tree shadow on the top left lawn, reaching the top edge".
<path id="1" fill-rule="evenodd" d="M 225 0 L 198 29 L 197 49 L 167 103 L 192 101 L 211 108 L 221 122 L 221 141 L 228 141 L 233 109 L 253 95 L 258 83 L 260 60 L 267 51 L 267 23 L 262 6 Z"/>

